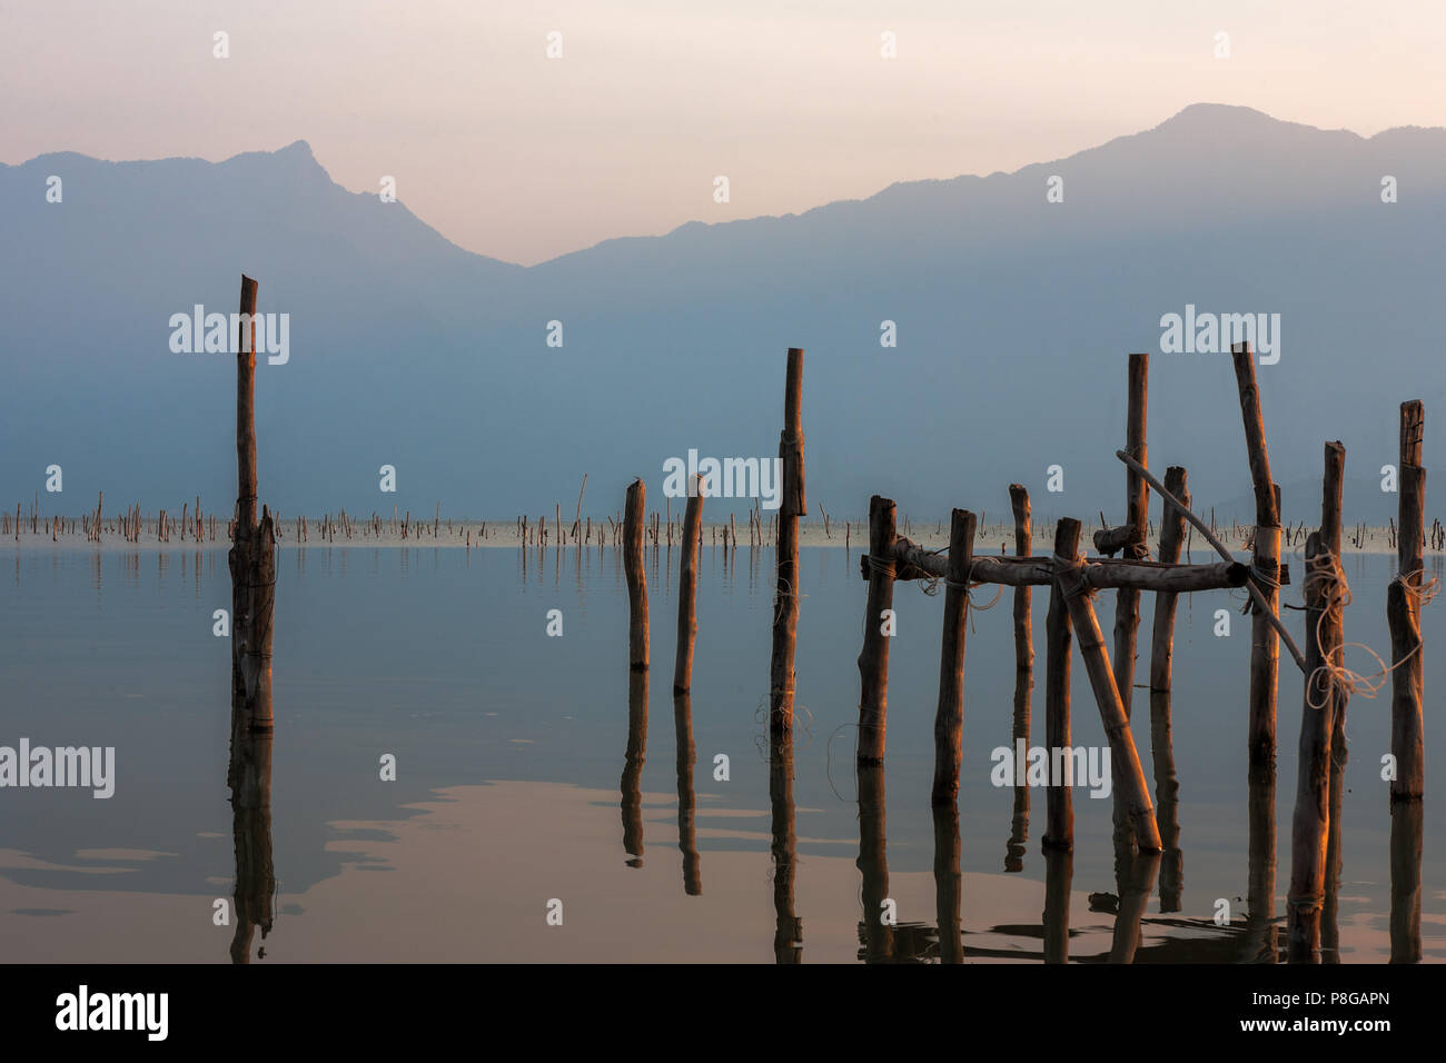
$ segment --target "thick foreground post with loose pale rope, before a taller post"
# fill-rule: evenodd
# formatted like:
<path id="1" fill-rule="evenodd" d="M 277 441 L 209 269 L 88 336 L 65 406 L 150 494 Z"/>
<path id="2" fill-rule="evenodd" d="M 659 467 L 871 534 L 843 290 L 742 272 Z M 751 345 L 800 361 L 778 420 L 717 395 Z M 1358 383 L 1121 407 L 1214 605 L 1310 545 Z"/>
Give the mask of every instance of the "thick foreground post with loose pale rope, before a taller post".
<path id="1" fill-rule="evenodd" d="M 1325 646 L 1339 636 L 1339 563 L 1320 539 L 1306 538 L 1306 693 L 1300 719 L 1296 813 L 1290 836 L 1290 918 L 1287 956 L 1291 963 L 1319 962 L 1320 905 L 1326 884 L 1326 830 L 1330 810 L 1332 680 Z"/>

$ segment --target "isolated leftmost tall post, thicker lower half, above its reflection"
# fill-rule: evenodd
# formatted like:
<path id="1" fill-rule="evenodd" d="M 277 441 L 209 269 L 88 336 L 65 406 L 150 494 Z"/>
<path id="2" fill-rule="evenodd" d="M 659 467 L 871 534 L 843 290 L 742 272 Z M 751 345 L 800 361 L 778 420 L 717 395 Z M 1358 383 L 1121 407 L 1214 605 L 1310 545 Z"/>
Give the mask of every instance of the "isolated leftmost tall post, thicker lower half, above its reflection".
<path id="1" fill-rule="evenodd" d="M 241 276 L 236 337 L 236 526 L 231 570 L 231 701 L 252 730 L 272 729 L 272 612 L 276 596 L 276 528 L 270 511 L 256 519 L 256 282 Z"/>

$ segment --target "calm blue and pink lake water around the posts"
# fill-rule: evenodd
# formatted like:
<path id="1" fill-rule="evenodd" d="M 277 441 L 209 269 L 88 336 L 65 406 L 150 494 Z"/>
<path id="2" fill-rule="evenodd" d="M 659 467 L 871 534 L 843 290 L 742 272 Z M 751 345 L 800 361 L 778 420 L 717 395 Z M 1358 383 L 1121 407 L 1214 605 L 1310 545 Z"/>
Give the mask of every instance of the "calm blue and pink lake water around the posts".
<path id="1" fill-rule="evenodd" d="M 677 554 L 649 551 L 646 729 L 633 691 L 628 594 L 612 548 L 286 548 L 275 620 L 270 807 L 233 814 L 230 607 L 224 550 L 0 551 L 0 745 L 114 746 L 116 790 L 0 790 L 0 955 L 7 960 L 937 960 L 951 904 L 951 832 L 930 807 L 943 594 L 895 592 L 884 777 L 855 775 L 865 584 L 855 550 L 804 550 L 791 801 L 769 778 L 768 550 L 700 555 L 693 696 L 672 697 Z M 1196 552 L 1194 561 L 1205 561 Z M 1297 555 L 1293 573 L 1303 571 Z M 1434 563 L 1439 563 L 1436 558 Z M 1349 555 L 1346 635 L 1388 655 L 1388 557 Z M 1429 561 L 1427 564 L 1433 564 Z M 1297 584 L 1285 600 L 1300 602 Z M 991 594 L 979 594 L 986 605 Z M 1242 593 L 1180 599 L 1174 756 L 1181 887 L 1157 884 L 1135 962 L 1249 960 L 1246 688 Z M 972 615 L 959 798 L 959 920 L 966 960 L 1103 962 L 1131 939 L 1118 902 L 1111 801 L 1074 790 L 1071 859 L 1045 861 L 1044 790 L 1027 837 L 1015 791 L 991 782 L 1011 745 L 1012 592 Z M 1043 743 L 1047 593 L 1034 594 L 1032 740 Z M 1112 594 L 1098 610 L 1108 632 Z M 1213 633 L 1232 610 L 1231 635 Z M 547 635 L 561 610 L 562 636 Z M 1137 683 L 1148 677 L 1152 602 L 1142 605 Z M 1426 609 L 1427 646 L 1446 636 Z M 1301 613 L 1287 613 L 1297 632 Z M 1423 957 L 1446 957 L 1446 862 L 1434 712 L 1442 657 L 1426 659 L 1427 800 Z M 1365 655 L 1356 671 L 1375 670 Z M 1301 678 L 1281 654 L 1274 915 L 1290 882 L 1290 816 Z M 1151 774 L 1148 696 L 1135 740 Z M 1390 688 L 1348 709 L 1339 959 L 1390 956 L 1387 784 Z M 696 765 L 680 746 L 687 733 Z M 1073 740 L 1103 746 L 1083 667 L 1073 670 Z M 641 772 L 628 769 L 645 742 Z M 680 740 L 681 738 L 681 740 Z M 396 759 L 395 781 L 380 759 Z M 716 778 L 719 755 L 727 778 Z M 691 793 L 690 793 L 691 790 Z M 1151 791 L 1154 780 L 1151 778 Z M 681 795 L 681 797 L 680 797 Z M 938 830 L 936 830 L 938 827 Z M 788 845 L 790 836 L 792 845 Z M 862 853 L 860 853 L 860 837 Z M 936 843 L 936 839 L 940 839 Z M 270 848 L 273 878 L 265 874 Z M 795 858 L 790 859 L 790 853 Z M 240 866 L 239 866 L 240 863 Z M 1006 871 L 1017 868 L 1015 871 Z M 234 908 L 241 879 L 241 915 Z M 1154 879 L 1151 879 L 1154 882 Z M 1053 933 L 1045 927 L 1047 885 Z M 269 894 L 269 895 L 257 895 Z M 881 927 L 881 898 L 897 926 Z M 1232 921 L 1212 917 L 1223 898 Z M 218 926 L 220 910 L 230 917 Z M 1164 911 L 1161 908 L 1165 908 Z M 250 908 L 268 924 L 236 933 Z M 549 923 L 561 914 L 561 926 Z M 947 918 L 947 917 L 946 917 Z M 1128 923 L 1128 926 L 1125 926 Z M 1283 924 L 1281 924 L 1283 926 Z M 950 937 L 946 934 L 946 937 Z M 1281 930 L 1281 946 L 1284 931 Z M 944 946 L 947 953 L 947 944 Z"/>

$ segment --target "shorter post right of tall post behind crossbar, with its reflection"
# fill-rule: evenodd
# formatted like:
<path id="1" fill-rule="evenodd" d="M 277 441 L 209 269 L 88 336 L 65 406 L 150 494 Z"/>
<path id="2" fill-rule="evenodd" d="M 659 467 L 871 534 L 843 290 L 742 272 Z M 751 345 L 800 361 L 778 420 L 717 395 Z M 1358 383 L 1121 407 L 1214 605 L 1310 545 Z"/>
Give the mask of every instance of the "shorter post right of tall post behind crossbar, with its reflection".
<path id="1" fill-rule="evenodd" d="M 1186 470 L 1170 466 L 1165 487 L 1186 508 L 1190 489 Z M 1184 512 L 1164 503 L 1160 521 L 1160 561 L 1176 564 L 1184 539 Z M 1170 722 L 1170 686 L 1174 655 L 1174 619 L 1178 594 L 1155 594 L 1155 620 L 1150 646 L 1150 756 L 1155 772 L 1155 820 L 1160 823 L 1160 843 L 1164 859 L 1160 865 L 1160 911 L 1180 911 L 1183 863 L 1180 852 L 1180 780 L 1174 767 L 1174 740 Z"/>

